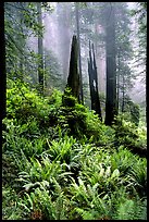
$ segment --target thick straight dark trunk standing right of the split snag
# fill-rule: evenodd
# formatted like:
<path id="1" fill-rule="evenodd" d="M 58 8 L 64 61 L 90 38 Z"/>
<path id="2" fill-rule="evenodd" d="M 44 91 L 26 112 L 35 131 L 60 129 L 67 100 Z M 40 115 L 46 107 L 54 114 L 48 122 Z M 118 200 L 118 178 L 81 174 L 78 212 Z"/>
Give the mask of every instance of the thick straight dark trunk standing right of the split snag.
<path id="1" fill-rule="evenodd" d="M 112 3 L 109 3 L 107 9 L 105 53 L 105 124 L 112 125 L 114 121 L 114 115 L 116 114 L 115 9 Z"/>

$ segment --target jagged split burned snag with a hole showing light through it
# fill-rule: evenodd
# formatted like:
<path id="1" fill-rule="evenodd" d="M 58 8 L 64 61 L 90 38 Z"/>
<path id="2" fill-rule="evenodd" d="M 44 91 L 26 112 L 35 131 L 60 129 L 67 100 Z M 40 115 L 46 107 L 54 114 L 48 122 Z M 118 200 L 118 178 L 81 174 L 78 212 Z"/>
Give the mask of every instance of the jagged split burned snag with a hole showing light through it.
<path id="1" fill-rule="evenodd" d="M 92 54 L 94 54 L 94 59 L 91 55 L 91 47 L 89 42 L 88 75 L 89 75 L 89 86 L 90 86 L 90 97 L 91 97 L 91 110 L 95 110 L 96 113 L 99 115 L 99 119 L 102 121 L 100 99 L 98 94 L 98 78 L 97 78 L 97 66 L 96 66 L 94 45 L 92 45 Z"/>

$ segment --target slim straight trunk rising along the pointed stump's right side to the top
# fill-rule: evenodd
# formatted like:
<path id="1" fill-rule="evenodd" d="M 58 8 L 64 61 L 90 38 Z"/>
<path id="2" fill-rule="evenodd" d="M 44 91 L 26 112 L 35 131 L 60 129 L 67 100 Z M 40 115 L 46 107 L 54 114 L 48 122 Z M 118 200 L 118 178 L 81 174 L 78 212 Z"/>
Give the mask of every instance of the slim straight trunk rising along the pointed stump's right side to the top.
<path id="1" fill-rule="evenodd" d="M 79 38 L 79 12 L 78 3 L 75 2 L 75 14 L 76 14 L 76 30 L 77 30 L 77 40 L 78 40 L 78 70 L 79 70 L 79 85 L 80 85 L 80 101 L 84 103 L 84 94 L 83 94 L 83 76 L 82 76 L 82 57 L 80 57 L 80 38 Z"/>

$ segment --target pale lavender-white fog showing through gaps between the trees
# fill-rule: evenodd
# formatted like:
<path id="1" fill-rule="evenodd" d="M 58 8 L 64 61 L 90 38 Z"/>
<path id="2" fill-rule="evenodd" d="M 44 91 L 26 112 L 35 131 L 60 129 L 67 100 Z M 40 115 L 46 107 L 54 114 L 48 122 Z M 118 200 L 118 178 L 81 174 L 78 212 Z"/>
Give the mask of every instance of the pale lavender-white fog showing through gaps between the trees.
<path id="1" fill-rule="evenodd" d="M 87 4 L 91 5 L 92 2 L 87 2 Z M 121 3 L 121 2 L 120 2 Z M 42 13 L 42 23 L 45 25 L 44 33 L 44 48 L 45 50 L 52 51 L 53 55 L 58 59 L 60 64 L 60 74 L 66 83 L 66 77 L 69 74 L 69 62 L 71 54 L 71 42 L 72 36 L 76 34 L 76 18 L 74 13 L 75 2 L 49 2 L 49 4 L 53 8 L 51 12 Z M 92 4 L 94 5 L 94 4 Z M 128 9 L 135 8 L 135 2 L 127 2 Z M 86 14 L 85 14 L 86 13 Z M 87 67 L 87 58 L 88 58 L 88 42 L 91 40 L 96 46 L 96 62 L 97 62 L 97 71 L 98 71 L 98 87 L 99 92 L 105 94 L 105 49 L 103 40 L 99 40 L 100 34 L 103 33 L 103 28 L 97 23 L 96 13 L 98 10 L 95 10 L 92 18 L 95 17 L 95 23 L 97 23 L 96 30 L 94 21 L 90 26 L 88 25 L 88 15 L 87 15 L 87 7 L 80 7 L 79 10 L 79 26 L 80 26 L 80 55 L 82 55 L 82 70 L 83 70 L 83 85 L 85 86 L 88 83 L 88 67 Z M 135 50 L 138 46 L 138 39 L 136 32 L 137 23 L 132 18 L 132 24 L 129 25 L 133 30 L 131 34 L 131 41 L 134 49 L 134 53 L 137 53 Z M 85 33 L 85 28 L 90 28 Z M 95 40 L 94 32 L 97 32 L 98 42 Z M 92 36 L 91 36 L 92 35 Z M 89 39 L 90 38 L 90 39 Z M 32 37 L 33 48 L 37 38 Z M 36 45 L 37 46 L 37 45 Z M 36 47 L 35 47 L 36 48 Z M 34 49 L 35 51 L 37 50 Z M 129 88 L 127 94 L 135 102 L 144 102 L 146 100 L 146 87 L 145 81 L 142 82 L 141 75 L 139 76 L 139 72 L 141 72 L 141 67 L 137 67 L 135 63 L 135 58 L 128 61 L 128 65 L 132 72 L 136 73 L 136 79 L 133 81 L 133 86 Z M 145 78 L 145 77 L 144 77 Z M 89 94 L 89 90 L 88 90 Z"/>

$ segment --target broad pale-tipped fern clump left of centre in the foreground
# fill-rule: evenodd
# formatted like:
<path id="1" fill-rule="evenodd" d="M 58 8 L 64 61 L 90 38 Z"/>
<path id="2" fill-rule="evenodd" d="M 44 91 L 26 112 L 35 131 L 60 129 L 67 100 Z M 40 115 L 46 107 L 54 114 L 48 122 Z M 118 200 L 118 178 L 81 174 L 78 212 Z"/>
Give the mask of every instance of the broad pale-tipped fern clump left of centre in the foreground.
<path id="1" fill-rule="evenodd" d="M 20 182 L 20 186 L 25 187 L 26 190 L 35 189 L 40 187 L 40 183 L 46 181 L 48 183 L 48 189 L 50 193 L 54 192 L 53 180 L 62 183 L 67 181 L 71 173 L 64 172 L 65 164 L 61 164 L 60 161 L 50 161 L 47 157 L 38 159 L 30 158 L 30 162 L 26 163 L 25 171 L 20 172 L 16 178 Z M 23 170 L 23 169 L 22 169 Z"/>

